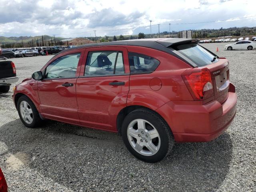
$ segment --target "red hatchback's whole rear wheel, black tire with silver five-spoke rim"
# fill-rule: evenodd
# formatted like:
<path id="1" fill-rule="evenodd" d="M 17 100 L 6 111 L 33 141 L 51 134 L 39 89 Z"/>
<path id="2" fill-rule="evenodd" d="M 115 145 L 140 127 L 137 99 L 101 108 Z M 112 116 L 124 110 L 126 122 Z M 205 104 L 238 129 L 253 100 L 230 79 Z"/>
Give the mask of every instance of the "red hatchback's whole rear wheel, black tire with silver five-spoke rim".
<path id="1" fill-rule="evenodd" d="M 162 118 L 148 109 L 130 112 L 122 124 L 122 138 L 128 150 L 145 162 L 158 162 L 174 145 L 174 137 Z"/>

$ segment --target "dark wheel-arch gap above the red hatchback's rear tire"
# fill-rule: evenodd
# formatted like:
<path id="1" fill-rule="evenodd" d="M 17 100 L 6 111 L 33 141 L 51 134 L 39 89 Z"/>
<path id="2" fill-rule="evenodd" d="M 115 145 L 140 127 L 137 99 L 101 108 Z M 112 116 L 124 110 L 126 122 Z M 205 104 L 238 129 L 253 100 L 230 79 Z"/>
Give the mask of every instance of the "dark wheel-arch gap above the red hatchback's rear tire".
<path id="1" fill-rule="evenodd" d="M 118 115 L 116 117 L 116 128 L 117 128 L 118 134 L 121 135 L 122 122 L 123 122 L 124 118 L 130 112 L 132 112 L 132 111 L 134 111 L 136 109 L 146 109 L 146 110 L 149 110 L 150 112 L 153 112 L 154 114 L 159 116 L 164 121 L 166 126 L 169 128 L 170 132 L 172 132 L 172 130 L 171 130 L 170 126 L 168 125 L 168 123 L 166 122 L 166 120 L 158 112 L 156 112 L 155 110 L 150 109 L 150 108 L 145 107 L 145 106 L 141 106 L 141 105 L 130 105 L 130 106 L 126 106 L 125 108 L 120 110 L 120 112 L 118 113 Z"/>

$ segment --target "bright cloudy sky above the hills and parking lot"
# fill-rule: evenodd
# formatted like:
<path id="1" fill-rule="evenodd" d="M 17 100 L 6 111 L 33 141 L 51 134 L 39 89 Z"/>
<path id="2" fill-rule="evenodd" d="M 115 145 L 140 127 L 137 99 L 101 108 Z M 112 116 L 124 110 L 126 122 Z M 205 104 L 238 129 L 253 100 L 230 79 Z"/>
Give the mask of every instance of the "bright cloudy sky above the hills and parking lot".
<path id="1" fill-rule="evenodd" d="M 0 36 L 126 35 L 256 26 L 255 0 L 0 0 Z M 242 18 L 242 19 L 238 19 Z M 220 20 L 227 20 L 220 22 Z M 208 22 L 200 24 L 181 24 Z M 142 27 L 142 28 L 138 28 Z M 117 30 L 119 29 L 119 30 Z M 126 29 L 126 30 L 122 30 Z M 76 34 L 74 34 L 76 33 Z"/>

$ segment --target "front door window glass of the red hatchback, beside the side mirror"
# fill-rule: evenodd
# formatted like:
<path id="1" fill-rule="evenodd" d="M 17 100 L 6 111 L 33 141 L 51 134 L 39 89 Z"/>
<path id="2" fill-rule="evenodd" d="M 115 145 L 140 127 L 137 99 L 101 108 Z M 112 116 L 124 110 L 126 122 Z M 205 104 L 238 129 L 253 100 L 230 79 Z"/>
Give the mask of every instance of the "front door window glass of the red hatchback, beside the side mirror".
<path id="1" fill-rule="evenodd" d="M 57 58 L 47 66 L 44 78 L 51 79 L 75 77 L 80 55 L 81 53 L 74 53 Z"/>

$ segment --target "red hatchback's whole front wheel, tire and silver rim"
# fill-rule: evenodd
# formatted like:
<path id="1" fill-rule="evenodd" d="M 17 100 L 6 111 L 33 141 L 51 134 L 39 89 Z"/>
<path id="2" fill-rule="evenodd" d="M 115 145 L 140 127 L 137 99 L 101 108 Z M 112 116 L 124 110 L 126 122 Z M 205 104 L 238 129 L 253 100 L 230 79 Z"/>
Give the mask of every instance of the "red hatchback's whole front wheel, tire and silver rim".
<path id="1" fill-rule="evenodd" d="M 36 127 L 42 119 L 34 103 L 25 95 L 21 96 L 17 102 L 17 110 L 22 123 L 29 128 Z"/>

